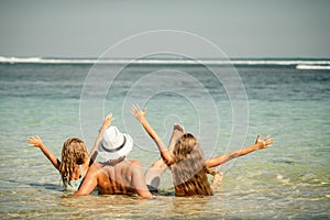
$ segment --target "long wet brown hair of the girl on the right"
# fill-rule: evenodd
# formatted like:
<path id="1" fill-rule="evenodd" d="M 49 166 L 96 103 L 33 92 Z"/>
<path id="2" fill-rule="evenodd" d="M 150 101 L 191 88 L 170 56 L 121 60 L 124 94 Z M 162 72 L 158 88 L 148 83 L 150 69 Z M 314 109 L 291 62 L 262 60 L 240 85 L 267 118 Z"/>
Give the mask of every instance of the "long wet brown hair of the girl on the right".
<path id="1" fill-rule="evenodd" d="M 213 195 L 208 182 L 202 151 L 197 139 L 184 134 L 173 150 L 172 174 L 176 196 Z"/>

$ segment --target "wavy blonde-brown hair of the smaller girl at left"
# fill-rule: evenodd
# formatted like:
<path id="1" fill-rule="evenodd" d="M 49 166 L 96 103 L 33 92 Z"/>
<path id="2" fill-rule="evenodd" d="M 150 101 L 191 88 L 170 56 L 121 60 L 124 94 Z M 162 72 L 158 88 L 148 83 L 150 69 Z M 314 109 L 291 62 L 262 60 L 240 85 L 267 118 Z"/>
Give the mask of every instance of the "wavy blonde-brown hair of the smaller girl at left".
<path id="1" fill-rule="evenodd" d="M 75 167 L 84 164 L 87 157 L 88 152 L 84 141 L 80 139 L 68 139 L 64 142 L 62 162 L 58 168 L 64 184 L 73 177 Z"/>

